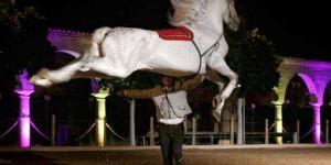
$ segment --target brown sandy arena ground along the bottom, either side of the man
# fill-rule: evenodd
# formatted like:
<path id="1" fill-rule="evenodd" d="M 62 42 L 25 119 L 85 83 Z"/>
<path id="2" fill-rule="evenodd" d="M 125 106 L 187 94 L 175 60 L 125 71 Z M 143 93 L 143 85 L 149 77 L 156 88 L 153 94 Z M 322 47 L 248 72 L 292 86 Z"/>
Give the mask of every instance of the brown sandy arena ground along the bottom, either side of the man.
<path id="1" fill-rule="evenodd" d="M 331 165 L 331 145 L 184 146 L 185 165 Z M 1 147 L 0 164 L 162 165 L 159 146 Z"/>

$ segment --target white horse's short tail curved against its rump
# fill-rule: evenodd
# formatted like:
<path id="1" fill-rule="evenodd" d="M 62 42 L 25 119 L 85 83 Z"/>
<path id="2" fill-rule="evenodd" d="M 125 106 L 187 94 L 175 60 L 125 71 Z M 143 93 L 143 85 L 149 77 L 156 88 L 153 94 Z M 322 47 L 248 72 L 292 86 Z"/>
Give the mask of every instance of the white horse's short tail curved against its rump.
<path id="1" fill-rule="evenodd" d="M 104 57 L 103 48 L 100 44 L 103 43 L 105 36 L 111 31 L 110 28 L 99 28 L 93 33 L 90 54 L 99 57 Z"/>

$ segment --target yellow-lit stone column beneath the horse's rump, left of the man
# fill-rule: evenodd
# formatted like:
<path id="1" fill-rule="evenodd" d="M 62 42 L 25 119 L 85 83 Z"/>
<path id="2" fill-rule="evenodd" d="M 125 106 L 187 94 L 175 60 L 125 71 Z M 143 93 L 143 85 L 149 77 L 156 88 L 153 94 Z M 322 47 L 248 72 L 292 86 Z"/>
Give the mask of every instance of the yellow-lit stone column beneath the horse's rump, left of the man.
<path id="1" fill-rule="evenodd" d="M 100 89 L 92 95 L 97 99 L 96 143 L 98 146 L 105 146 L 106 97 L 109 96 L 109 89 Z"/>

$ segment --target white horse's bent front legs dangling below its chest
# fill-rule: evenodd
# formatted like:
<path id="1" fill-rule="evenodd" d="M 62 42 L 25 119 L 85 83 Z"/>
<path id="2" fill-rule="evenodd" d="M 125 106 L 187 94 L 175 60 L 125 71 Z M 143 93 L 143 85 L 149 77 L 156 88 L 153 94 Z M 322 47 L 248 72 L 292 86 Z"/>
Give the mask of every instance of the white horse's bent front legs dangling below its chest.
<path id="1" fill-rule="evenodd" d="M 213 116 L 217 121 L 221 119 L 221 112 L 225 102 L 225 99 L 229 97 L 232 91 L 236 88 L 237 81 L 238 81 L 238 76 L 236 73 L 234 73 L 225 63 L 225 61 L 222 58 L 217 61 L 217 63 L 213 63 L 213 65 L 209 65 L 213 70 L 216 70 L 221 75 L 224 75 L 228 78 L 228 84 L 227 86 L 223 89 L 223 84 L 217 84 L 220 88 L 220 95 L 215 97 L 217 100 L 218 105 L 217 108 L 213 111 Z M 217 118 L 218 117 L 218 118 Z"/>

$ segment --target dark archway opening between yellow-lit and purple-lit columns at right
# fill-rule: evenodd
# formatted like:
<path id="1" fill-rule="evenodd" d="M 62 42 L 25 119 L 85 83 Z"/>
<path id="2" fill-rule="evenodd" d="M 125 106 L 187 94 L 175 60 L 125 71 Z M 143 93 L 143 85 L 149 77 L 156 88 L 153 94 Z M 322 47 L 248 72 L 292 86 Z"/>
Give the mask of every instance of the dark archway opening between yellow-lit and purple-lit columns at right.
<path id="1" fill-rule="evenodd" d="M 313 138 L 314 111 L 310 101 L 311 94 L 316 94 L 316 88 L 309 75 L 298 73 L 290 78 L 282 106 L 282 127 L 286 131 L 296 132 L 297 121 L 300 121 L 301 143 L 309 143 Z"/>

